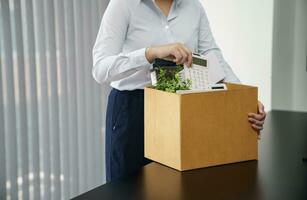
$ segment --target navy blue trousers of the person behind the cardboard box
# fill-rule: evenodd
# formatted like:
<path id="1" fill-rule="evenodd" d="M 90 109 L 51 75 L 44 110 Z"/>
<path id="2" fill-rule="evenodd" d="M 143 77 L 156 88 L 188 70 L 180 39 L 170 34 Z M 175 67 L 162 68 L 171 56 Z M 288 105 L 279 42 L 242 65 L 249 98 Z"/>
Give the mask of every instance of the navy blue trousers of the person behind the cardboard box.
<path id="1" fill-rule="evenodd" d="M 111 90 L 105 147 L 107 182 L 150 162 L 144 158 L 144 90 Z"/>

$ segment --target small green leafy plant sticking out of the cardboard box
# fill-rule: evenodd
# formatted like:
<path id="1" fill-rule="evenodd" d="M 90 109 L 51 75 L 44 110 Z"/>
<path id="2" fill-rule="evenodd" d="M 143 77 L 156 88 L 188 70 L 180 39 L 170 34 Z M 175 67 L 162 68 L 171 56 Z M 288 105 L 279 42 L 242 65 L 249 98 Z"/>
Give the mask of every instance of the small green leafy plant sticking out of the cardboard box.
<path id="1" fill-rule="evenodd" d="M 175 93 L 177 90 L 190 90 L 191 80 L 181 80 L 179 72 L 182 66 L 177 66 L 175 69 L 167 70 L 158 68 L 157 84 L 154 87 L 157 90 Z"/>

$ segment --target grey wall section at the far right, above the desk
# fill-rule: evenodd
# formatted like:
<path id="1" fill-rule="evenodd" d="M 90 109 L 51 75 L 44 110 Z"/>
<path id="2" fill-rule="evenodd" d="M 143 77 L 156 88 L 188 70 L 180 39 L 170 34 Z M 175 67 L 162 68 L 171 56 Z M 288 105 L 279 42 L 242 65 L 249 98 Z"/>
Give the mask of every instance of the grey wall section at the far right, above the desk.
<path id="1" fill-rule="evenodd" d="M 272 108 L 307 112 L 307 0 L 275 0 Z"/>

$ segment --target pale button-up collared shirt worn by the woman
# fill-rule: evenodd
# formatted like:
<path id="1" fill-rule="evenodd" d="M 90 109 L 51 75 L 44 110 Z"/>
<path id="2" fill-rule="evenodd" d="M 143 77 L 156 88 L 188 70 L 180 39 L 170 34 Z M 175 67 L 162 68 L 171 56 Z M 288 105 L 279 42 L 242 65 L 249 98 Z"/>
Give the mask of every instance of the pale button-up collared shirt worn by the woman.
<path id="1" fill-rule="evenodd" d="M 93 49 L 93 76 L 118 90 L 144 89 L 151 83 L 146 47 L 177 42 L 200 54 L 214 51 L 225 81 L 239 82 L 214 41 L 199 0 L 173 0 L 167 17 L 154 0 L 110 0 Z"/>

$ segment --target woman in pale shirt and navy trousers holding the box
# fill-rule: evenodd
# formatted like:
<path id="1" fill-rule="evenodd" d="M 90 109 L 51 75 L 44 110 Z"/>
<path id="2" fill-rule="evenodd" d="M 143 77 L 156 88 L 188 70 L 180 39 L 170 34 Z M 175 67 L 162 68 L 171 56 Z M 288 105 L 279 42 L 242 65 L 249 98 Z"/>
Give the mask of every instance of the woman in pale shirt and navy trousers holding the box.
<path id="1" fill-rule="evenodd" d="M 227 34 L 227 33 L 225 33 Z M 129 174 L 144 158 L 144 87 L 151 83 L 151 63 L 172 57 L 191 66 L 192 54 L 214 52 L 225 71 L 224 81 L 239 79 L 225 62 L 198 0 L 110 0 L 93 49 L 93 76 L 110 84 L 106 115 L 107 182 Z M 247 120 L 258 132 L 265 112 Z"/>

